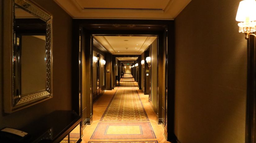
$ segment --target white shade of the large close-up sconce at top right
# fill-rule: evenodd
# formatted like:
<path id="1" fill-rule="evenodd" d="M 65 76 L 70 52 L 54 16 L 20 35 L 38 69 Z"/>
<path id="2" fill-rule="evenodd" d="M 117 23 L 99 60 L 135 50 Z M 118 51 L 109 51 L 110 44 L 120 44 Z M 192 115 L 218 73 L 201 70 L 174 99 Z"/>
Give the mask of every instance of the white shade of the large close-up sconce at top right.
<path id="1" fill-rule="evenodd" d="M 256 21 L 256 1 L 255 0 L 243 0 L 239 3 L 239 7 L 236 14 L 236 21 L 239 21 L 239 22 Z"/>

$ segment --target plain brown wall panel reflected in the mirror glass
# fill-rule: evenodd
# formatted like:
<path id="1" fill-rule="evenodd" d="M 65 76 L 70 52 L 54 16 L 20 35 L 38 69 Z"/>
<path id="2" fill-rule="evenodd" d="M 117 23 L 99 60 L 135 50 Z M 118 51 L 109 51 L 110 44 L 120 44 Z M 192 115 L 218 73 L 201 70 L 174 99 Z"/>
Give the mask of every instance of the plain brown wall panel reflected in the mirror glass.
<path id="1" fill-rule="evenodd" d="M 44 91 L 46 88 L 45 40 L 23 35 L 20 45 L 21 94 Z"/>

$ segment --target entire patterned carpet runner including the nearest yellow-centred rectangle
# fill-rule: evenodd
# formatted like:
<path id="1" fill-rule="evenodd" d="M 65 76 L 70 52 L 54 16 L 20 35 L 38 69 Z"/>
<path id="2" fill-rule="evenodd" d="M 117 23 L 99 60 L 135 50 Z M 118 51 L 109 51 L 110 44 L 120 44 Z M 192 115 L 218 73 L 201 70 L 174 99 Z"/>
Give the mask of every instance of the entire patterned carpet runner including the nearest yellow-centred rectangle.
<path id="1" fill-rule="evenodd" d="M 88 143 L 158 143 L 155 139 L 134 78 L 125 74 Z"/>

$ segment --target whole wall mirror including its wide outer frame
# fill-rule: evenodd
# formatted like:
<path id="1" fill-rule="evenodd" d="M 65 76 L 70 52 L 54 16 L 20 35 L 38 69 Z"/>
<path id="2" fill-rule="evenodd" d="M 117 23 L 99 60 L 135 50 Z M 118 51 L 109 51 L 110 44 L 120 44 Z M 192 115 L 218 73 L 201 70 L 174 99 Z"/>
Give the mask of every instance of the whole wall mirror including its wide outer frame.
<path id="1" fill-rule="evenodd" d="M 27 0 L 4 1 L 4 110 L 52 98 L 52 16 Z"/>

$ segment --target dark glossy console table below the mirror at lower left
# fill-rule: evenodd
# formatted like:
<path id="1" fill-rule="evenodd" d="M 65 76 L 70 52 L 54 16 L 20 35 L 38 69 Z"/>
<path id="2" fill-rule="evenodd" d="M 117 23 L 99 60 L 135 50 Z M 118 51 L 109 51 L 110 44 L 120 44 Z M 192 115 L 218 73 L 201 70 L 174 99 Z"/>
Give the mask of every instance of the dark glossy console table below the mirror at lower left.
<path id="1" fill-rule="evenodd" d="M 80 143 L 82 141 L 81 123 L 82 123 L 81 116 L 77 115 L 74 112 L 54 111 L 32 123 L 29 123 L 29 125 L 26 125 L 23 128 L 19 129 L 29 134 L 29 137 L 27 137 L 26 140 L 23 140 L 21 142 L 22 143 L 70 142 L 69 136 L 76 135 L 75 141 L 77 143 Z M 9 142 L 9 141 L 6 140 L 6 142 Z"/>

